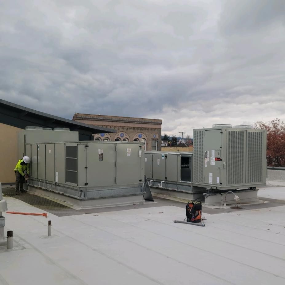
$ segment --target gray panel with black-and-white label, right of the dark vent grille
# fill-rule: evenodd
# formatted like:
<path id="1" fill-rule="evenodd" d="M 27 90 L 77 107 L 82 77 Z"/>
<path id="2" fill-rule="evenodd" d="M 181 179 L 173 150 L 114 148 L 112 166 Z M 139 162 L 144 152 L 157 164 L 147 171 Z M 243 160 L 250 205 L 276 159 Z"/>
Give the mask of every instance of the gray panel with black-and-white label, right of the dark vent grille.
<path id="1" fill-rule="evenodd" d="M 88 186 L 112 186 L 115 183 L 115 144 L 89 143 L 87 148 Z"/>

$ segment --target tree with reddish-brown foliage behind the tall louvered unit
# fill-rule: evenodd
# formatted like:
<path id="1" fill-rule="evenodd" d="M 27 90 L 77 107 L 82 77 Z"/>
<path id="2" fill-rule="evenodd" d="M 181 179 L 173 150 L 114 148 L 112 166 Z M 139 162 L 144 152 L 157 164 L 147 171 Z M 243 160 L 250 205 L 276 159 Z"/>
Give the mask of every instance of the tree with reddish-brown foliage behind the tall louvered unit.
<path id="1" fill-rule="evenodd" d="M 285 167 L 285 124 L 280 119 L 258 121 L 255 129 L 267 130 L 267 165 Z"/>

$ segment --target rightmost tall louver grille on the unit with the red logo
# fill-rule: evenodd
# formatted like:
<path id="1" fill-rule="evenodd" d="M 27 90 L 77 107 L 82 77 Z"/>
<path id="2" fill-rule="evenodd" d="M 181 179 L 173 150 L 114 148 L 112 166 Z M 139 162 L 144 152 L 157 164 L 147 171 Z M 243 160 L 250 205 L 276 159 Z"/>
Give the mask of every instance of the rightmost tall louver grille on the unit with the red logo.
<path id="1" fill-rule="evenodd" d="M 247 136 L 247 183 L 262 182 L 263 133 L 248 132 Z"/>

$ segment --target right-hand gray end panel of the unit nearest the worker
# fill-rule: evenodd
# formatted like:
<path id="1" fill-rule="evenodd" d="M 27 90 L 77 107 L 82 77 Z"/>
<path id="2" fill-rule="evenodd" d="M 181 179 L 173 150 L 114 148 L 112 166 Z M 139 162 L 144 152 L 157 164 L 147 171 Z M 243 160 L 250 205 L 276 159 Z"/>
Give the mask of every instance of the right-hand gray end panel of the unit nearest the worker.
<path id="1" fill-rule="evenodd" d="M 118 143 L 117 144 L 117 184 L 134 184 L 140 183 L 140 144 Z M 142 180 L 144 181 L 144 180 Z"/>

